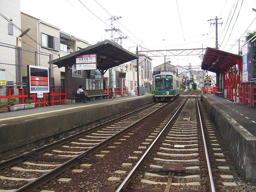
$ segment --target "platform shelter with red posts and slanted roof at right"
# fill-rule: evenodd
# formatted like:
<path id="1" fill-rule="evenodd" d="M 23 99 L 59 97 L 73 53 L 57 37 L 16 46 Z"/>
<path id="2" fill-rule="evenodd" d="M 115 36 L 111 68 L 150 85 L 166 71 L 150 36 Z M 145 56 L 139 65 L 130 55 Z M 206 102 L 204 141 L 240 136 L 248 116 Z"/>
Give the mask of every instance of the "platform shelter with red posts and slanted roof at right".
<path id="1" fill-rule="evenodd" d="M 216 73 L 217 93 L 235 100 L 241 87 L 242 57 L 233 53 L 207 47 L 201 68 Z M 234 98 L 235 96 L 235 98 Z"/>

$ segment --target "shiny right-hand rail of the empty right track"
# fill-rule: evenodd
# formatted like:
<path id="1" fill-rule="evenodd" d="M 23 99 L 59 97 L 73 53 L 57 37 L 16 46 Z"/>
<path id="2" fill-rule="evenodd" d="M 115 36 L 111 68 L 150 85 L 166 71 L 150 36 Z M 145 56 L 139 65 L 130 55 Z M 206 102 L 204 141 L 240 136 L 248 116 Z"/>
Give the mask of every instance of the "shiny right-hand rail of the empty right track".
<path id="1" fill-rule="evenodd" d="M 204 137 L 204 129 L 203 129 L 202 118 L 201 118 L 201 115 L 200 115 L 197 95 L 198 95 L 198 93 L 196 94 L 196 104 L 197 104 L 198 116 L 199 116 L 199 120 L 200 120 L 201 135 L 202 135 L 202 139 L 203 139 L 204 156 L 205 156 L 205 159 L 206 159 L 206 166 L 207 166 L 207 169 L 208 169 L 208 177 L 209 177 L 209 180 L 210 180 L 209 189 L 210 189 L 211 192 L 216 192 L 215 184 L 214 184 L 213 176 L 212 176 L 210 158 L 209 158 L 209 155 L 208 155 L 208 150 L 207 150 L 206 141 L 205 141 L 205 137 Z"/>

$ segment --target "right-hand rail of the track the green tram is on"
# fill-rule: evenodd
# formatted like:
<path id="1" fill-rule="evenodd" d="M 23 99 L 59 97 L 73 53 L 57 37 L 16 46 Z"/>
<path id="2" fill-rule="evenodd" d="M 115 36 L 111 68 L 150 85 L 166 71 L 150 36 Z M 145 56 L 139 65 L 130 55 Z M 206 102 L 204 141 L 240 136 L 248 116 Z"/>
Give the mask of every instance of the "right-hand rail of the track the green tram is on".
<path id="1" fill-rule="evenodd" d="M 168 104 L 167 104 L 168 105 Z M 88 157 L 90 154 L 94 153 L 95 151 L 99 150 L 100 148 L 106 146 L 108 143 L 112 142 L 113 140 L 115 140 L 116 138 L 120 137 L 121 135 L 123 135 L 125 132 L 128 132 L 132 127 L 136 126 L 137 124 L 139 124 L 141 121 L 144 121 L 145 119 L 149 118 L 152 114 L 154 114 L 156 111 L 165 108 L 164 105 L 158 109 L 156 109 L 155 111 L 153 111 L 152 113 L 148 114 L 147 116 L 143 117 L 142 119 L 138 120 L 137 122 L 135 122 L 134 124 L 128 126 L 127 128 L 125 128 L 124 130 L 116 133 L 115 135 L 111 136 L 110 138 L 100 142 L 99 144 L 93 146 L 92 148 L 86 150 L 85 152 L 81 153 L 80 155 L 68 160 L 67 162 L 61 164 L 60 166 L 52 169 L 51 171 L 45 173 L 44 175 L 36 178 L 33 181 L 30 181 L 28 184 L 22 186 L 21 188 L 16 189 L 14 192 L 28 192 L 28 191 L 33 191 L 34 189 L 40 187 L 41 185 L 43 185 L 44 183 L 48 182 L 49 180 L 51 180 L 52 178 L 58 176 L 59 174 L 61 174 L 62 172 L 65 172 L 67 169 L 69 169 L 70 167 L 76 165 L 78 162 L 81 162 L 81 160 L 84 157 Z"/>

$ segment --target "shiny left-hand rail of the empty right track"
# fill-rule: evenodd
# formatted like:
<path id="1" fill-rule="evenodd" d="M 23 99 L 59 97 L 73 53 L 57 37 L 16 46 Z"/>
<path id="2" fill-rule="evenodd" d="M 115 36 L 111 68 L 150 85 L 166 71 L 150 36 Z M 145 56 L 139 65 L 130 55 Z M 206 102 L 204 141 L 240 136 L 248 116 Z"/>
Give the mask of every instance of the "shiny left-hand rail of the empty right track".
<path id="1" fill-rule="evenodd" d="M 192 94 L 192 93 L 191 93 Z M 189 96 L 189 95 L 188 95 Z M 172 118 L 168 121 L 168 123 L 164 126 L 163 130 L 158 134 L 156 139 L 153 141 L 153 143 L 149 146 L 147 151 L 143 154 L 143 156 L 140 158 L 138 163 L 133 167 L 132 171 L 127 175 L 127 177 L 124 179 L 124 181 L 119 185 L 119 187 L 116 189 L 116 192 L 121 192 L 128 183 L 133 180 L 138 172 L 140 171 L 140 168 L 146 163 L 148 160 L 148 157 L 151 155 L 151 153 L 154 151 L 156 145 L 159 143 L 159 141 L 162 139 L 163 135 L 169 128 L 169 125 L 172 123 L 173 118 L 177 115 L 177 113 L 180 111 L 184 103 L 188 100 L 188 97 L 183 101 L 183 103 L 180 105 L 178 110 L 174 113 Z"/>

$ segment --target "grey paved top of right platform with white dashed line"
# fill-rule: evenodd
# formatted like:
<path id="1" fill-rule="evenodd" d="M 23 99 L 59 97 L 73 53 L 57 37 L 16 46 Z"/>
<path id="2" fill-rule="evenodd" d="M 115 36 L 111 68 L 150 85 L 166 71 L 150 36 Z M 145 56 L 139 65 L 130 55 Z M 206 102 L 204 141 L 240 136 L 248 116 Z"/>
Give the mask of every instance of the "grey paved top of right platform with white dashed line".
<path id="1" fill-rule="evenodd" d="M 242 125 L 247 131 L 256 136 L 256 108 L 242 105 L 239 102 L 232 102 L 226 98 L 212 94 L 204 94 L 214 105 L 225 111 L 229 116 Z"/>

